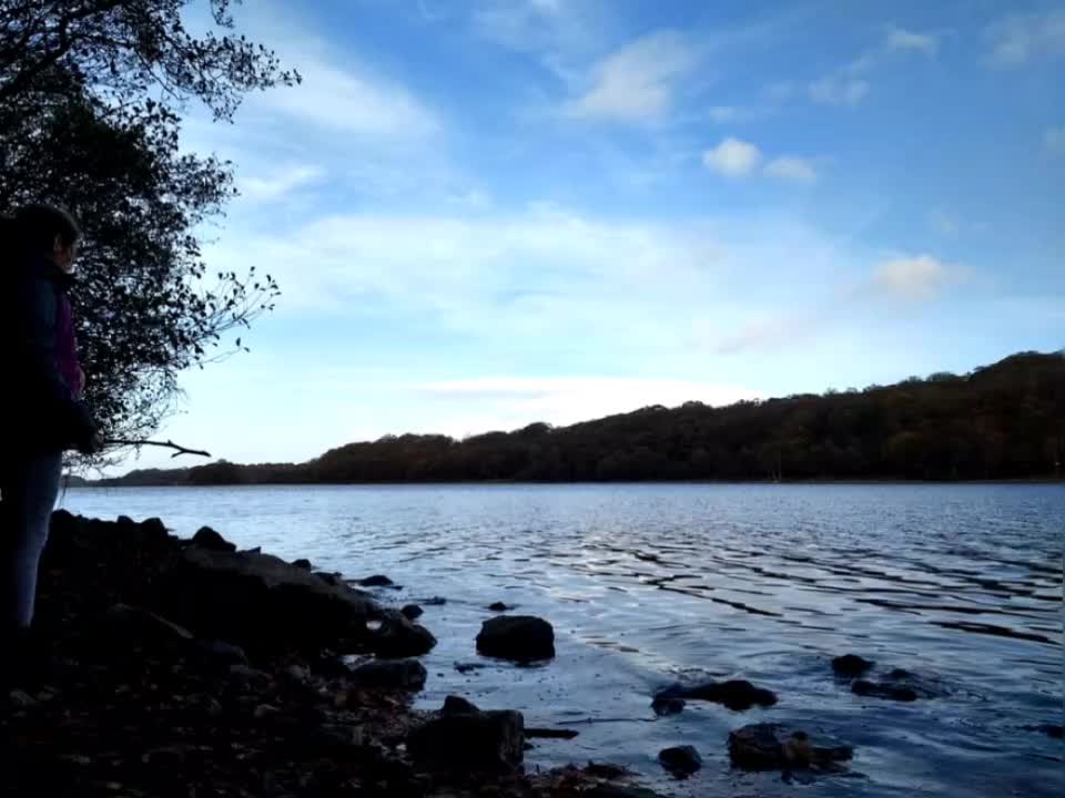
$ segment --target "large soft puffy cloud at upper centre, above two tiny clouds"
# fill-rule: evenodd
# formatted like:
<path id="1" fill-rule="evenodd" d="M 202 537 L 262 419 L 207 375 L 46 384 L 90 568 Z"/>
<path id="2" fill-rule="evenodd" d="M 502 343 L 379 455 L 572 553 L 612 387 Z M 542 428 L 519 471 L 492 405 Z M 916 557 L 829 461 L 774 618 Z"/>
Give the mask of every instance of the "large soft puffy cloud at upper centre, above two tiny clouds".
<path id="1" fill-rule="evenodd" d="M 584 120 L 653 122 L 672 109 L 676 82 L 696 65 L 696 57 L 674 31 L 650 33 L 602 59 L 590 88 L 565 106 Z"/>

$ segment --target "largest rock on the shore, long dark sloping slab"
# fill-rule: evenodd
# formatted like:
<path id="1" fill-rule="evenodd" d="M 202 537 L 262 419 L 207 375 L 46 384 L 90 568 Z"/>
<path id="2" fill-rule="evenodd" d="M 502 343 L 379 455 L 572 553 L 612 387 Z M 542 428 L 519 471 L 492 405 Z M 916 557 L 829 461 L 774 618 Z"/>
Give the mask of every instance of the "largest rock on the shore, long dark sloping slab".
<path id="1" fill-rule="evenodd" d="M 382 610 L 280 557 L 190 546 L 153 585 L 154 605 L 203 637 L 246 651 L 355 651 Z"/>

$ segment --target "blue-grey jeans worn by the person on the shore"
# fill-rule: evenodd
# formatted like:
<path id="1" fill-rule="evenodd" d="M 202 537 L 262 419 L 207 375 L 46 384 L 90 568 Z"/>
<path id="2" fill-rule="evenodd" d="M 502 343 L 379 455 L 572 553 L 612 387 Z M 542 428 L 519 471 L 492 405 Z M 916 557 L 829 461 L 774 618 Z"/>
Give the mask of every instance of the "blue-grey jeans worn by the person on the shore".
<path id="1" fill-rule="evenodd" d="M 4 453 L 0 461 L 0 626 L 28 628 L 37 572 L 59 495 L 62 452 Z"/>

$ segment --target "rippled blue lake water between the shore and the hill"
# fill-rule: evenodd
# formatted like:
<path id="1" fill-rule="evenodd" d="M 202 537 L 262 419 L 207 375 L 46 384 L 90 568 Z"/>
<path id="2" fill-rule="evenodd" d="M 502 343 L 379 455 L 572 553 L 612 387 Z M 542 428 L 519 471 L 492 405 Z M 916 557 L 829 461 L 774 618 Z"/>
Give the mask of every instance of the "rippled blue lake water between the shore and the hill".
<path id="1" fill-rule="evenodd" d="M 1063 723 L 1062 485 L 432 485 L 71 489 L 89 515 L 209 524 L 242 548 L 357 577 L 404 604 L 434 596 L 439 638 L 419 705 L 449 693 L 567 725 L 528 764 L 628 765 L 680 796 L 1059 796 L 1065 750 L 1026 726 Z M 480 659 L 496 601 L 551 621 L 558 657 Z M 853 652 L 941 681 L 913 704 L 862 698 L 829 661 Z M 467 674 L 455 663 L 485 663 Z M 679 677 L 748 678 L 769 709 L 689 703 L 656 718 Z M 730 729 L 798 723 L 855 747 L 864 778 L 784 784 L 729 768 Z M 674 782 L 659 749 L 693 745 Z"/>

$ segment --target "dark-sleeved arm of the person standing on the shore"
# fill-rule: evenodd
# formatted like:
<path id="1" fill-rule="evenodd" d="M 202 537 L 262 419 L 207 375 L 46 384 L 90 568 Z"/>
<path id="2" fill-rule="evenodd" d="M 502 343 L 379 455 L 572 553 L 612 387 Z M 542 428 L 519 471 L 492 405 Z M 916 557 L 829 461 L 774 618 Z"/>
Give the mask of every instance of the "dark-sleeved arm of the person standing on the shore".
<path id="1" fill-rule="evenodd" d="M 26 380 L 21 389 L 40 407 L 42 416 L 54 419 L 64 446 L 87 449 L 98 424 L 89 406 L 74 399 L 59 370 L 55 359 L 55 290 L 45 280 L 32 276 L 21 280 L 20 288 L 14 344 Z"/>

